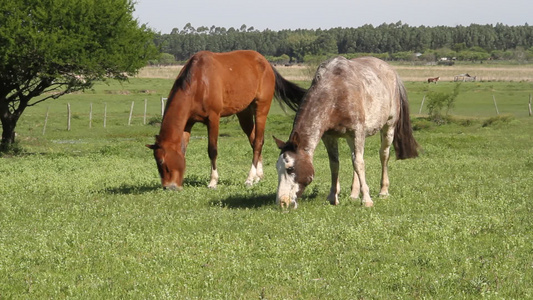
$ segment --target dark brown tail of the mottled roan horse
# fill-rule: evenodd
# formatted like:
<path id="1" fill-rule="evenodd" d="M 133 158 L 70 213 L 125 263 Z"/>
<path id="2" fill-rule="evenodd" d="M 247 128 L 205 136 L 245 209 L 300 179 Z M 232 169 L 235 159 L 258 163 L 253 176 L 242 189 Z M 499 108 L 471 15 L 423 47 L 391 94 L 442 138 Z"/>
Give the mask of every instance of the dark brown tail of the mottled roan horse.
<path id="1" fill-rule="evenodd" d="M 396 159 L 414 158 L 418 156 L 419 145 L 413 136 L 413 128 L 409 119 L 409 101 L 403 82 L 398 77 L 398 93 L 400 96 L 400 117 L 394 130 L 394 150 Z"/>

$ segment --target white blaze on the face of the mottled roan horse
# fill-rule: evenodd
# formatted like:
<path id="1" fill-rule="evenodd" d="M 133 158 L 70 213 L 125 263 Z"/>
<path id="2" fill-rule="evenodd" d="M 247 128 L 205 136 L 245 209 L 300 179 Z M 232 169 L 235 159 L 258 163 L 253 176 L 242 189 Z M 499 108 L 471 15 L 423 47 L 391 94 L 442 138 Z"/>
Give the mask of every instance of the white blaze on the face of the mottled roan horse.
<path id="1" fill-rule="evenodd" d="M 296 208 L 298 206 L 296 203 L 296 195 L 299 185 L 295 180 L 294 158 L 286 152 L 282 153 L 276 163 L 276 169 L 278 170 L 278 193 L 276 195 L 276 204 L 281 205 L 282 208 L 289 208 L 291 205 L 294 205 L 294 208 Z"/>

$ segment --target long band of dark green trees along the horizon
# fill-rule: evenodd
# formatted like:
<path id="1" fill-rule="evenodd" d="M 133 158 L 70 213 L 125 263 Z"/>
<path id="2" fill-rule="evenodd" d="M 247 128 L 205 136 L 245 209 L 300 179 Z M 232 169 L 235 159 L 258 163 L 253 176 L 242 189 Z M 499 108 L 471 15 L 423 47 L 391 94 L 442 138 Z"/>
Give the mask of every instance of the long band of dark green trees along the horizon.
<path id="1" fill-rule="evenodd" d="M 156 34 L 162 56 L 153 63 L 182 62 L 200 50 L 256 50 L 278 63 L 305 62 L 325 55 L 372 54 L 387 60 L 436 61 L 442 57 L 482 61 L 533 60 L 533 26 L 496 25 L 413 27 L 401 21 L 377 27 L 263 30 L 194 28 L 190 23 L 170 34 Z"/>

